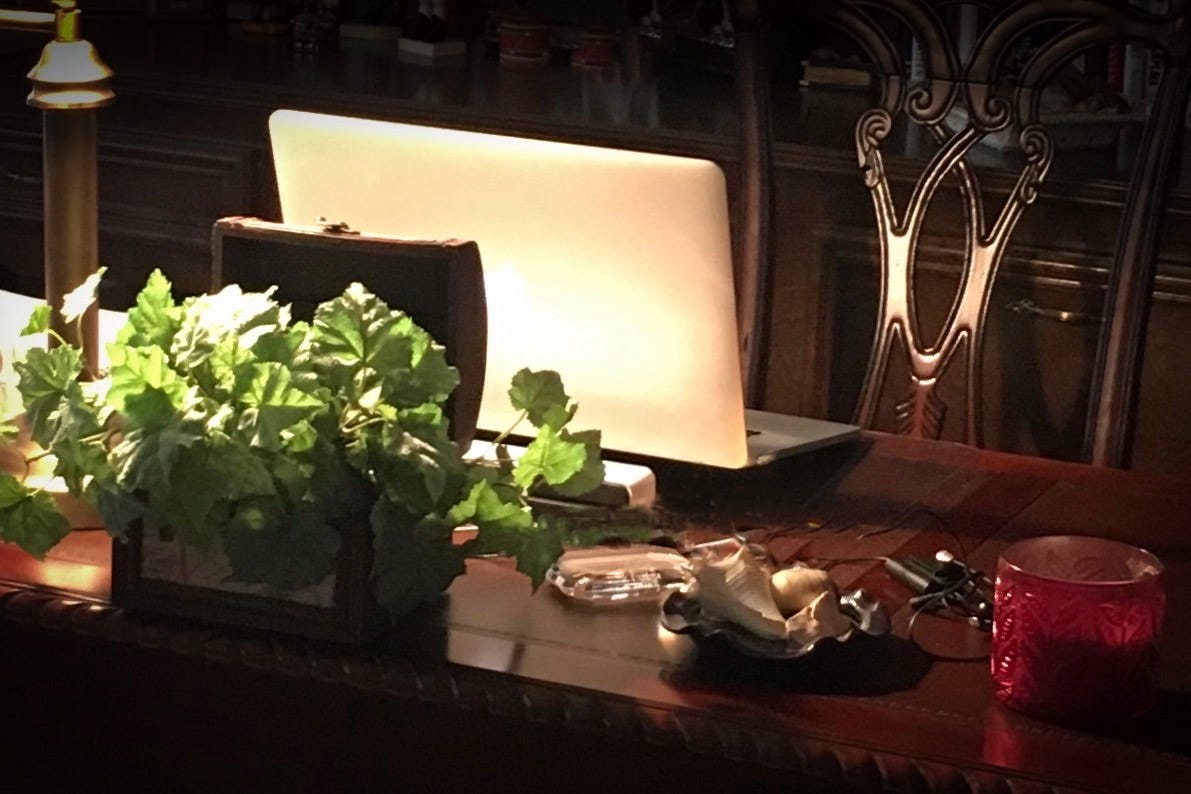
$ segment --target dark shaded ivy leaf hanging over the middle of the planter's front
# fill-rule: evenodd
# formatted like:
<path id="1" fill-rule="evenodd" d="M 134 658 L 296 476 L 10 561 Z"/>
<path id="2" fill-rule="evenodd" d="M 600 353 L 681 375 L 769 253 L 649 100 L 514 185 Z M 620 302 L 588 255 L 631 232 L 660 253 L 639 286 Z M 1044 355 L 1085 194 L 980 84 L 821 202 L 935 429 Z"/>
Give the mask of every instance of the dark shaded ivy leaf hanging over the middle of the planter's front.
<path id="1" fill-rule="evenodd" d="M 229 581 L 262 582 L 274 593 L 318 584 L 335 571 L 339 532 L 308 504 L 261 529 L 233 523 L 223 531 Z"/>

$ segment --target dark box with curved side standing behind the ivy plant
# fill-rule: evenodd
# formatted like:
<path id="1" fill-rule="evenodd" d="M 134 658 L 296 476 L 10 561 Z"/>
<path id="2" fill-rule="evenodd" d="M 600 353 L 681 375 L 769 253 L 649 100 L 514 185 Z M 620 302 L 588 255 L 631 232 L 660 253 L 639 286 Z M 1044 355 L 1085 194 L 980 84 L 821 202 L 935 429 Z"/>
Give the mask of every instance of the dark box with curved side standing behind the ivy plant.
<path id="1" fill-rule="evenodd" d="M 447 405 L 451 438 L 475 436 L 487 361 L 487 302 L 480 250 L 473 242 L 419 242 L 361 235 L 342 224 L 295 226 L 258 218 L 222 218 L 212 230 L 212 292 L 236 283 L 276 286 L 294 319 L 310 320 L 323 301 L 358 281 L 409 314 L 459 370 Z"/>

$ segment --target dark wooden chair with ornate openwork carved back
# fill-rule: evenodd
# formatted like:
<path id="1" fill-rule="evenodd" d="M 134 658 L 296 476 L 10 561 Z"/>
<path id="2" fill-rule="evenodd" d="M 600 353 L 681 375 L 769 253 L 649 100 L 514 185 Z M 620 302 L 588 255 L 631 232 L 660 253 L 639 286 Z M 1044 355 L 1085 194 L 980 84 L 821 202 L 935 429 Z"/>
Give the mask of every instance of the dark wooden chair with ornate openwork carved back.
<path id="1" fill-rule="evenodd" d="M 855 126 L 855 150 L 872 196 L 880 246 L 879 314 L 872 355 L 855 421 L 872 426 L 885 387 L 891 355 L 909 361 L 909 383 L 897 404 L 899 432 L 939 437 L 947 406 L 940 377 L 958 357 L 965 360 L 967 443 L 981 444 L 981 360 L 989 299 L 1014 229 L 1035 201 L 1055 156 L 1052 136 L 1040 119 L 1042 87 L 1077 55 L 1129 42 L 1166 55 L 1166 68 L 1141 135 L 1117 235 L 1104 307 L 1100 344 L 1092 380 L 1085 456 L 1093 463 L 1127 467 L 1133 443 L 1149 299 L 1153 292 L 1159 221 L 1170 174 L 1180 150 L 1189 86 L 1189 4 L 1174 0 L 1165 14 L 1142 12 L 1114 0 L 1015 0 L 989 11 L 990 20 L 961 58 L 943 21 L 947 0 L 835 0 L 805 4 L 798 14 L 847 32 L 883 77 L 879 104 Z M 765 83 L 765 25 L 773 6 L 737 4 L 737 92 L 742 160 L 741 333 L 746 343 L 746 383 L 750 400 L 763 394 L 766 327 L 772 306 L 767 244 L 771 223 L 768 179 L 769 106 Z M 887 23 L 896 19 L 921 44 L 922 74 L 908 65 Z M 1023 33 L 1047 31 L 1049 39 L 1016 73 L 1009 54 Z M 955 123 L 956 108 L 965 111 Z M 890 190 L 881 143 L 896 119 L 927 130 L 937 151 L 917 177 L 912 194 L 898 206 Z M 996 215 L 986 217 L 985 195 L 969 163 L 972 148 L 989 135 L 1017 133 L 1024 162 L 1016 185 Z M 964 202 L 964 267 L 942 329 L 924 338 L 916 314 L 913 273 L 927 208 L 944 180 L 955 179 Z M 962 355 L 960 355 L 962 354 Z"/>

